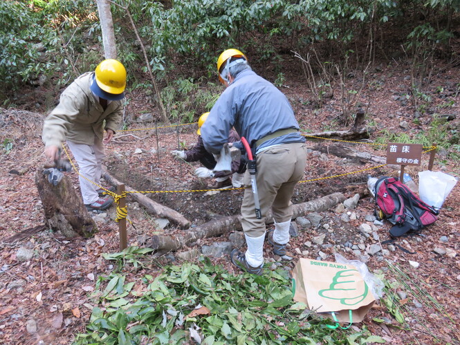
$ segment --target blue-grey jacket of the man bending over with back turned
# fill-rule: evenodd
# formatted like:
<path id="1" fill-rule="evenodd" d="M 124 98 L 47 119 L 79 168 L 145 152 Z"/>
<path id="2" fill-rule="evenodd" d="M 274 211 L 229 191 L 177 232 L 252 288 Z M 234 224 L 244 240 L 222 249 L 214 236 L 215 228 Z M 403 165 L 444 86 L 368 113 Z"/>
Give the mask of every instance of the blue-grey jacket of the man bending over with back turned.
<path id="1" fill-rule="evenodd" d="M 201 127 L 205 148 L 219 153 L 234 127 L 251 147 L 255 142 L 281 129 L 299 129 L 286 96 L 253 71 L 242 71 L 223 91 Z M 300 133 L 288 133 L 267 140 L 257 150 L 275 144 L 305 142 Z M 237 146 L 235 144 L 235 146 Z M 241 149 L 241 146 L 239 146 Z"/>

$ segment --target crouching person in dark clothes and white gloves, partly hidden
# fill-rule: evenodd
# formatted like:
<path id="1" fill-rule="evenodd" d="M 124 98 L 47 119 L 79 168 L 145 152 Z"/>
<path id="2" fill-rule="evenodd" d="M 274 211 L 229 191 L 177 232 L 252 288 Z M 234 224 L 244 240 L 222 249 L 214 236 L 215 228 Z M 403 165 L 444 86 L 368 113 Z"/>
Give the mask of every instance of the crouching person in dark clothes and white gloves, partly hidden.
<path id="1" fill-rule="evenodd" d="M 198 131 L 196 131 L 198 134 L 198 140 L 196 141 L 194 147 L 185 151 L 174 150 L 171 151 L 171 153 L 176 158 L 185 160 L 185 162 L 200 161 L 205 167 L 196 169 L 196 176 L 200 178 L 216 178 L 208 184 L 208 188 L 218 189 L 231 186 L 234 188 L 243 187 L 243 176 L 246 171 L 246 158 L 244 156 L 241 156 L 241 158 L 237 160 L 232 160 L 232 171 L 230 174 L 226 174 L 223 171 L 212 171 L 217 163 L 212 153 L 206 151 L 203 139 L 201 138 L 201 126 L 205 123 L 208 115 L 209 113 L 204 113 L 198 120 Z M 228 135 L 228 142 L 239 142 L 239 140 L 240 138 L 237 131 L 231 129 Z"/>

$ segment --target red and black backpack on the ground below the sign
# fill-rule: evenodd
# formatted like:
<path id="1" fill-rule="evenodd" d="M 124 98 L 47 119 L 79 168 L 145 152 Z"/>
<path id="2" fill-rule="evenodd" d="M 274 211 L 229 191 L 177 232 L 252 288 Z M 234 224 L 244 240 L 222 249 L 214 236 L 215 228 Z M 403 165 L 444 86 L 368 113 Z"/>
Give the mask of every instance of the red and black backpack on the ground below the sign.
<path id="1" fill-rule="evenodd" d="M 398 178 L 384 176 L 374 186 L 376 216 L 387 219 L 394 226 L 389 230 L 393 237 L 410 230 L 421 230 L 437 220 L 439 211 L 421 201 Z"/>

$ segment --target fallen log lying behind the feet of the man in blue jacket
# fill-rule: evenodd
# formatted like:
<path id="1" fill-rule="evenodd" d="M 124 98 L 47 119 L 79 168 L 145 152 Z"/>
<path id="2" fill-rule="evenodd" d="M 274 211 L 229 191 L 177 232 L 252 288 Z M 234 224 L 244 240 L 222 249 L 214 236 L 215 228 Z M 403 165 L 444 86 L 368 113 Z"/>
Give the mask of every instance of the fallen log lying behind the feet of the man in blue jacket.
<path id="1" fill-rule="evenodd" d="M 333 193 L 306 203 L 293 205 L 293 218 L 304 216 L 309 212 L 325 211 L 338 203 L 342 203 L 344 200 L 345 196 L 343 194 Z M 270 223 L 273 223 L 271 213 L 266 217 L 266 224 Z M 241 230 L 241 215 L 214 219 L 174 236 L 154 235 L 151 237 L 149 248 L 153 248 L 157 252 L 175 252 L 186 245 L 196 242 L 198 239 L 220 236 L 233 230 Z"/>

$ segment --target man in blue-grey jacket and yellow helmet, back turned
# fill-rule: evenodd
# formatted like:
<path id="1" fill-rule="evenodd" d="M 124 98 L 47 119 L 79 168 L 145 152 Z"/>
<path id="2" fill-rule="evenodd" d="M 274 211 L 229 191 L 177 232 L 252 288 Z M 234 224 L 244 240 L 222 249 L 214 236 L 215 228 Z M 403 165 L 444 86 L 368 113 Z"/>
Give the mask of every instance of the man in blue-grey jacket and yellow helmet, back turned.
<path id="1" fill-rule="evenodd" d="M 225 50 L 217 59 L 219 80 L 226 86 L 201 136 L 208 151 L 219 154 L 232 127 L 246 138 L 257 158 L 257 184 L 260 213 L 255 212 L 255 196 L 246 188 L 241 204 L 241 225 L 248 249 L 233 250 L 232 263 L 252 274 L 264 267 L 265 217 L 271 210 L 275 230 L 268 232 L 273 252 L 286 256 L 289 226 L 293 216 L 291 198 L 306 166 L 305 138 L 299 133 L 293 109 L 273 84 L 252 71 L 246 55 L 237 49 Z M 243 149 L 235 143 L 234 147 Z M 251 185 L 249 171 L 244 185 Z"/>

